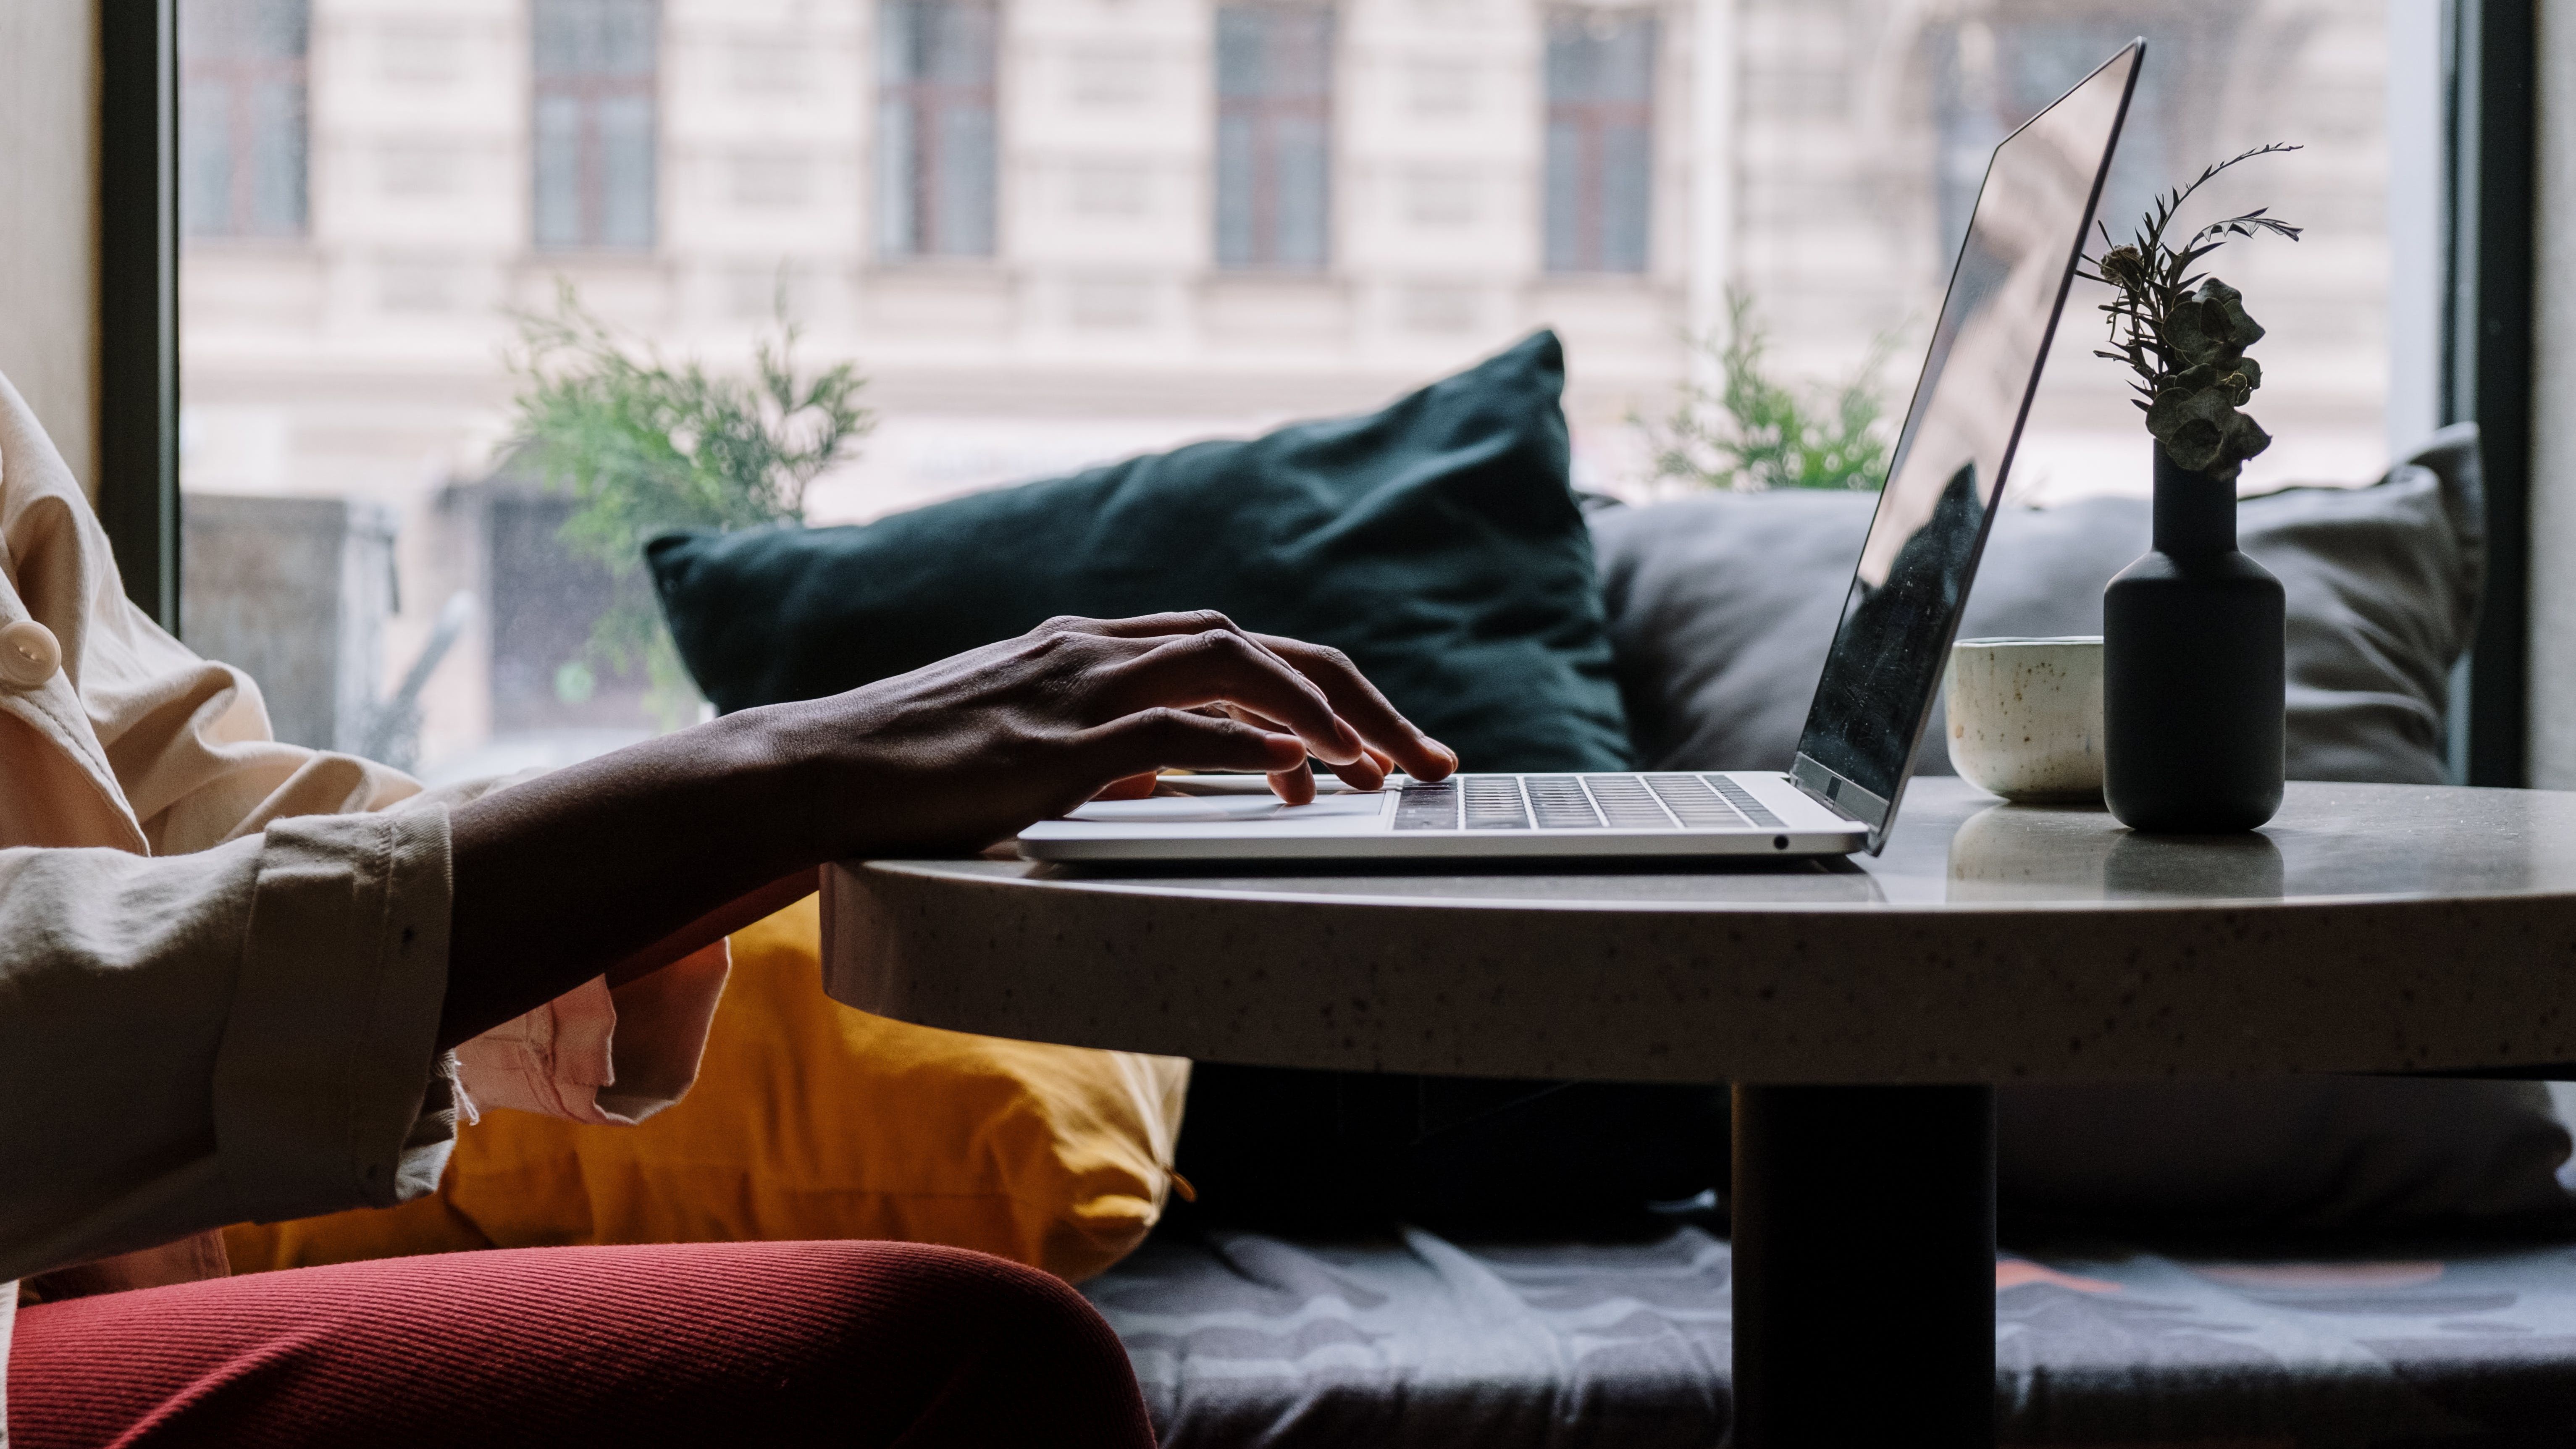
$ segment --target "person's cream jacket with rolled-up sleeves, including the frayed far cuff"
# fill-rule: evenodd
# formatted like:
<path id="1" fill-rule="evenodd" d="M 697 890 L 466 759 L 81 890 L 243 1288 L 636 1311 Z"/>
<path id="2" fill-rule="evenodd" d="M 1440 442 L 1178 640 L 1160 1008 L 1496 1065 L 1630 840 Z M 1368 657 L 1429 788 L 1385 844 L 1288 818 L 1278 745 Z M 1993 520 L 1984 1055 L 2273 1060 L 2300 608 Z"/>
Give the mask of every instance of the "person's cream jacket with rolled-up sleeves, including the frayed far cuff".
<path id="1" fill-rule="evenodd" d="M 0 378 L 0 1385 L 21 1271 L 435 1184 L 446 842 L 415 780 L 270 739 L 240 669 L 126 602 Z M 469 1042 L 464 1091 L 644 1117 L 696 1078 L 724 968 L 592 981 Z"/>

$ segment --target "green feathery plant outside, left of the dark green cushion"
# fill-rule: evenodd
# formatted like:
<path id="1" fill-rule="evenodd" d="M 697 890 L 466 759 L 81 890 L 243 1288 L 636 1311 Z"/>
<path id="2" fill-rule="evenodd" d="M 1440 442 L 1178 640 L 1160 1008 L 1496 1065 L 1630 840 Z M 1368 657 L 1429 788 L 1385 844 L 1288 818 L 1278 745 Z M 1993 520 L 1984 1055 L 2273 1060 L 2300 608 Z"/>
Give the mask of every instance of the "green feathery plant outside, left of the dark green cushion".
<path id="1" fill-rule="evenodd" d="M 853 363 L 796 365 L 799 329 L 783 311 L 747 378 L 618 337 L 569 283 L 551 311 L 518 314 L 513 458 L 572 494 L 556 538 L 611 579 L 608 613 L 554 674 L 567 703 L 590 697 L 603 672 L 641 667 L 659 726 L 688 723 L 698 692 L 644 577 L 644 540 L 672 528 L 804 522 L 814 479 L 876 427 Z"/>

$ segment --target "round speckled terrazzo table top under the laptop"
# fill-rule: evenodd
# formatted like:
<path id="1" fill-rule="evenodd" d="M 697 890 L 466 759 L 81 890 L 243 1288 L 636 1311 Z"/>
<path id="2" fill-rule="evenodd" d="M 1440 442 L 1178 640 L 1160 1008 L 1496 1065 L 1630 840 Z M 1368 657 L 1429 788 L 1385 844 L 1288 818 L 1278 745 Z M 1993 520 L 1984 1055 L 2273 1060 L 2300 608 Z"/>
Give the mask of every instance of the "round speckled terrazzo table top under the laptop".
<path id="1" fill-rule="evenodd" d="M 824 875 L 884 1017 L 1262 1066 L 2027 1081 L 2576 1060 L 2576 793 L 2293 782 L 2249 836 L 1917 780 L 1886 854 Z"/>

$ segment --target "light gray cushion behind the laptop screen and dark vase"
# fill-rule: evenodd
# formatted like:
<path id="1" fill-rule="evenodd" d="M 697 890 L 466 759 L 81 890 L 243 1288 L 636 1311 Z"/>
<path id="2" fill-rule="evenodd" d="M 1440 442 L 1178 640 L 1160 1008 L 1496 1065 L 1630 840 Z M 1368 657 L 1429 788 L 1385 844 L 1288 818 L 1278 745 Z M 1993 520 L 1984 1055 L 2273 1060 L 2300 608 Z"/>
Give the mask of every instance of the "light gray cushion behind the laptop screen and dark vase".
<path id="1" fill-rule="evenodd" d="M 1873 504 L 1700 494 L 1592 515 L 1649 767 L 1790 764 Z M 2439 782 L 2450 664 L 2486 577 L 2476 430 L 2445 430 L 2367 489 L 2287 489 L 2236 515 L 2290 595 L 2290 777 Z M 2002 512 L 1960 638 L 2099 633 L 2102 584 L 2146 535 L 2146 499 Z M 1924 772 L 1950 775 L 1942 741 L 1935 713 Z"/>

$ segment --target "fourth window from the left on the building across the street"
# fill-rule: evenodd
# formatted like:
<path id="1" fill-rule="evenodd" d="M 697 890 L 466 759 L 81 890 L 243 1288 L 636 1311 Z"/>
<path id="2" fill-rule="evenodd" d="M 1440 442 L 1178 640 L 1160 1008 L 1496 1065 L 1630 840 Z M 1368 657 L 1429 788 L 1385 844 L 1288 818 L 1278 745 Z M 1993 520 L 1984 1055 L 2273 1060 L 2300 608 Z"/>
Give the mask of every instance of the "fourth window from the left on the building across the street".
<path id="1" fill-rule="evenodd" d="M 1321 268 L 1332 226 L 1332 10 L 1216 10 L 1216 265 Z"/>

